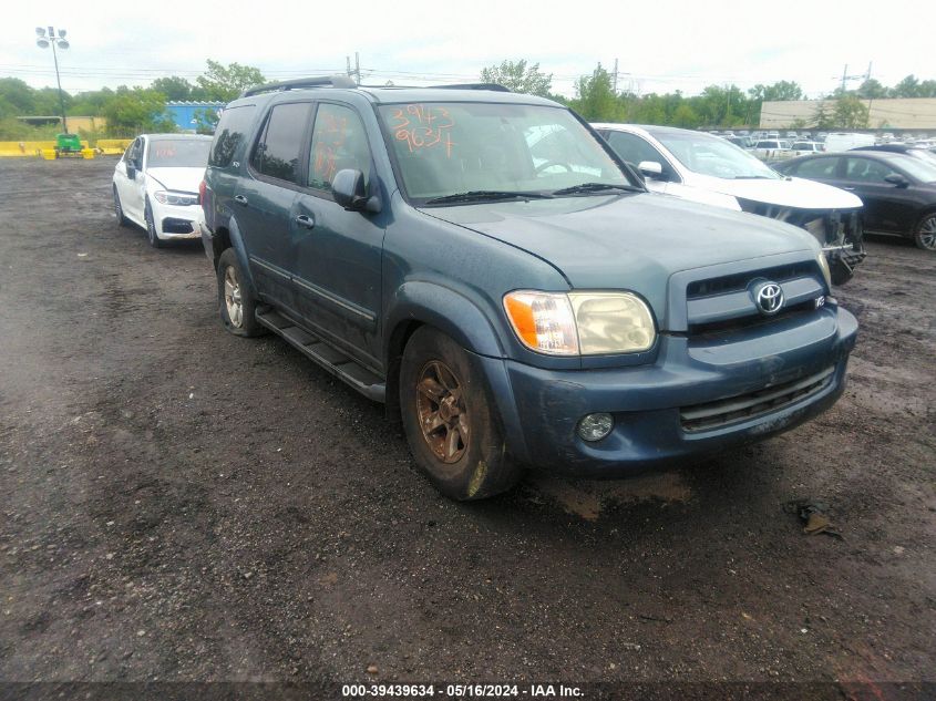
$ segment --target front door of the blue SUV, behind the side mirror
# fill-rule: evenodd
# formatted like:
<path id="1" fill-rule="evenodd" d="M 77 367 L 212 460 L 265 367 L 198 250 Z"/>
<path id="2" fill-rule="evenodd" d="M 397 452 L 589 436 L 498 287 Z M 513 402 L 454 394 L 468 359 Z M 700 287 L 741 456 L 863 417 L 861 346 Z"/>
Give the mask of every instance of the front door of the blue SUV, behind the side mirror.
<path id="1" fill-rule="evenodd" d="M 289 221 L 297 303 L 313 330 L 379 370 L 384 225 L 380 215 L 346 212 L 331 195 L 335 174 L 346 168 L 363 173 L 371 192 L 371 144 L 353 107 L 318 103 L 308 159 Z"/>

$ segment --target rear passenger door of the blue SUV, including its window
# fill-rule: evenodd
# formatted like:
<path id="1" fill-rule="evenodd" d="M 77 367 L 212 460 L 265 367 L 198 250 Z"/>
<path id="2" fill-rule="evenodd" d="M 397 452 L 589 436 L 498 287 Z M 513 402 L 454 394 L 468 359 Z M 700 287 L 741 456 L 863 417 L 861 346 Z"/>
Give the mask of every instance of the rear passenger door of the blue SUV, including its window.
<path id="1" fill-rule="evenodd" d="M 280 102 L 267 114 L 232 206 L 260 296 L 297 312 L 289 268 L 290 216 L 306 177 L 311 102 Z"/>

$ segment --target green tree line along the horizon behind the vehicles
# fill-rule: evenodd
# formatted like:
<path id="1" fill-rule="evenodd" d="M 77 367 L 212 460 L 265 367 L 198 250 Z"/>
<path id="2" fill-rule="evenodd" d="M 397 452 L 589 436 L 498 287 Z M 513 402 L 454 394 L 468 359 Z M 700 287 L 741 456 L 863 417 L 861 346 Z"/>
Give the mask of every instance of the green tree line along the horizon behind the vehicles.
<path id="1" fill-rule="evenodd" d="M 599 63 L 575 83 L 575 97 L 553 92 L 553 74 L 538 63 L 525 60 L 503 61 L 481 71 L 482 82 L 498 83 L 514 92 L 551 97 L 576 110 L 593 122 L 631 122 L 686 128 L 757 125 L 764 102 L 802 100 L 803 90 L 793 81 L 758 84 L 744 91 L 737 85 L 706 86 L 698 95 L 671 93 L 638 94 L 616 90 L 614 75 Z M 107 135 L 132 136 L 140 132 L 173 131 L 166 103 L 175 101 L 222 102 L 235 99 L 245 87 L 266 82 L 259 69 L 208 60 L 205 72 L 194 82 L 177 75 L 156 79 L 148 87 L 121 85 L 71 95 L 63 93 L 66 114 L 101 116 L 107 122 Z M 885 86 L 875 79 L 865 80 L 854 90 L 841 87 L 826 96 L 831 103 L 816 101 L 809 120 L 791 124 L 793 128 L 862 128 L 868 124 L 867 103 L 885 97 L 936 97 L 936 80 L 907 75 L 896 85 Z M 59 92 L 53 87 L 33 89 L 16 78 L 0 79 L 0 140 L 29 138 L 35 127 L 17 116 L 59 115 Z M 202 131 L 212 131 L 213 110 L 196 114 Z M 58 125 L 50 127 L 56 130 Z M 48 130 L 47 130 L 48 131 Z"/>

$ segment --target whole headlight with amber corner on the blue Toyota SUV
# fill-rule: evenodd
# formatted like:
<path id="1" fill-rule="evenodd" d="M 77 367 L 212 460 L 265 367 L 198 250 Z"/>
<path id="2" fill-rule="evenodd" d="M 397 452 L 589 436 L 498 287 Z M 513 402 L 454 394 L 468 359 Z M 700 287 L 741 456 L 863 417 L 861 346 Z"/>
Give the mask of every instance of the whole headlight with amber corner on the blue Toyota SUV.
<path id="1" fill-rule="evenodd" d="M 657 338 L 647 305 L 629 292 L 534 292 L 504 297 L 517 338 L 549 355 L 604 355 L 649 350 Z"/>

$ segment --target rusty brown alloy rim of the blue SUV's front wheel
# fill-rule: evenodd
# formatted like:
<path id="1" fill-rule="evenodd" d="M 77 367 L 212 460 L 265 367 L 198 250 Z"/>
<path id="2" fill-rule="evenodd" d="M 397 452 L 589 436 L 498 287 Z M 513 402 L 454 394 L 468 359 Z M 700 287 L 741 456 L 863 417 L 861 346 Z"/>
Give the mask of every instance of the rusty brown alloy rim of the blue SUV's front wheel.
<path id="1" fill-rule="evenodd" d="M 470 426 L 462 383 L 445 363 L 428 362 L 416 382 L 422 437 L 443 463 L 456 463 L 467 450 Z"/>

